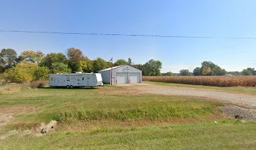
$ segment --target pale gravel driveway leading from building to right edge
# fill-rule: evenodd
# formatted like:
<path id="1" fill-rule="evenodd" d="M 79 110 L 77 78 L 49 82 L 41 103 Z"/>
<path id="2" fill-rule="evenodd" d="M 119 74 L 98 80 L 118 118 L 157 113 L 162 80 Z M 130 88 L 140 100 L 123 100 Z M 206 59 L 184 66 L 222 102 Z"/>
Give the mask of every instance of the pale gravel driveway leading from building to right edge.
<path id="1" fill-rule="evenodd" d="M 227 116 L 242 116 L 248 121 L 256 121 L 256 96 L 249 94 L 227 93 L 210 89 L 179 88 L 168 86 L 134 86 L 138 91 L 149 94 L 175 96 L 198 96 L 229 103 L 221 108 Z"/>

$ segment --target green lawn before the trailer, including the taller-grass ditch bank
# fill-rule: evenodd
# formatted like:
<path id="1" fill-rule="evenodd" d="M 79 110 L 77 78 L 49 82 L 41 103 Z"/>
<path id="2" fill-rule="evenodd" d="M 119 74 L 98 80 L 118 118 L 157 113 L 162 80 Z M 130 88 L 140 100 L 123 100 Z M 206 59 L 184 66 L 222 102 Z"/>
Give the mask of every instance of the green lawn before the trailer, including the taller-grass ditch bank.
<path id="1" fill-rule="evenodd" d="M 210 118 L 220 114 L 220 103 L 179 96 L 132 96 L 99 94 L 109 89 L 26 89 L 1 96 L 0 107 L 26 106 L 36 112 L 18 116 L 9 128 L 36 126 L 52 119 L 60 122 L 93 120 L 167 120 Z"/>

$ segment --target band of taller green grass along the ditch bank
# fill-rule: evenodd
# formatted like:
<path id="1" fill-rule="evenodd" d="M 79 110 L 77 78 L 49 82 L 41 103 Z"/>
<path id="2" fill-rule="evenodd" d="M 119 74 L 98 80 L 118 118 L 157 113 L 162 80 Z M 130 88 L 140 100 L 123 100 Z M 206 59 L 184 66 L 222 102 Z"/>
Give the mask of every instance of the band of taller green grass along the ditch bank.
<path id="1" fill-rule="evenodd" d="M 58 113 L 54 119 L 65 121 L 93 120 L 165 120 L 169 118 L 189 118 L 208 116 L 215 113 L 214 106 L 151 106 L 129 109 L 70 109 Z"/>

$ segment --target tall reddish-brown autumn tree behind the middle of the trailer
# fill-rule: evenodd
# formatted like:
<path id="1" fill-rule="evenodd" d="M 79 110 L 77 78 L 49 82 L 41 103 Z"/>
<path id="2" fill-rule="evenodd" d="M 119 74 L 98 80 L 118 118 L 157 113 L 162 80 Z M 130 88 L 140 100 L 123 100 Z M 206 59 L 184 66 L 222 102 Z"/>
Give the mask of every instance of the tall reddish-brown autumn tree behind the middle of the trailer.
<path id="1" fill-rule="evenodd" d="M 72 70 L 72 72 L 82 71 L 81 69 L 81 61 L 83 59 L 83 53 L 80 49 L 75 49 L 73 47 L 68 49 L 68 67 Z"/>

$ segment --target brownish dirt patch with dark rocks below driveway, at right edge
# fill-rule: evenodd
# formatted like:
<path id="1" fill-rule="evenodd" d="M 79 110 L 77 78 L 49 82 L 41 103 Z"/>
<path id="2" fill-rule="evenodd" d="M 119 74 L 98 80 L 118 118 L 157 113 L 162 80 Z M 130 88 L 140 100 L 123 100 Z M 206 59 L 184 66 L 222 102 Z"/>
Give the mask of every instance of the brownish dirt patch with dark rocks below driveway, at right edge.
<path id="1" fill-rule="evenodd" d="M 243 108 L 235 105 L 222 106 L 221 109 L 229 118 L 243 119 L 245 121 L 256 121 L 255 109 Z"/>

